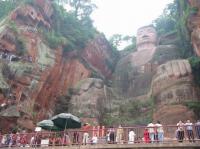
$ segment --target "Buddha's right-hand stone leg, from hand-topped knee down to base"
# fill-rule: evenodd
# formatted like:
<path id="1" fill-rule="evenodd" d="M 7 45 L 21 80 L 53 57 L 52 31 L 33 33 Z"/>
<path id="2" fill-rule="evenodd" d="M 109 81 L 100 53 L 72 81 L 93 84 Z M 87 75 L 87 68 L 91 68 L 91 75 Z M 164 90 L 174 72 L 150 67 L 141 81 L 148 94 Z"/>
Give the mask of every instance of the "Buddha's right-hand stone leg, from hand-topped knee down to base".
<path id="1" fill-rule="evenodd" d="M 178 120 L 195 119 L 193 111 L 185 106 L 186 102 L 198 101 L 199 97 L 187 60 L 173 60 L 160 65 L 151 89 L 151 96 L 156 100 L 154 120 L 174 124 Z"/>

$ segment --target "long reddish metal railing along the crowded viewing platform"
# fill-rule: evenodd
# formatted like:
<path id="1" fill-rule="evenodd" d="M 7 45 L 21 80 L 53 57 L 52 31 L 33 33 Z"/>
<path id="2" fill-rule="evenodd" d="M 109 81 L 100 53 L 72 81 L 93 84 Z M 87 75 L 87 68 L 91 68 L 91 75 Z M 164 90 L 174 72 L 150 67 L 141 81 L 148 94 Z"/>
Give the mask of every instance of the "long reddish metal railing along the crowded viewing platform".
<path id="1" fill-rule="evenodd" d="M 0 147 L 44 147 L 87 144 L 156 144 L 156 143 L 200 143 L 200 125 L 193 125 L 188 131 L 174 125 L 162 126 L 164 133 L 160 139 L 158 127 L 122 127 L 65 130 L 62 132 L 11 133 L 0 135 Z M 152 128 L 152 134 L 149 130 Z M 131 132 L 133 131 L 133 132 Z M 130 133 L 131 132 L 131 133 Z M 153 136 L 153 138 L 152 138 Z"/>

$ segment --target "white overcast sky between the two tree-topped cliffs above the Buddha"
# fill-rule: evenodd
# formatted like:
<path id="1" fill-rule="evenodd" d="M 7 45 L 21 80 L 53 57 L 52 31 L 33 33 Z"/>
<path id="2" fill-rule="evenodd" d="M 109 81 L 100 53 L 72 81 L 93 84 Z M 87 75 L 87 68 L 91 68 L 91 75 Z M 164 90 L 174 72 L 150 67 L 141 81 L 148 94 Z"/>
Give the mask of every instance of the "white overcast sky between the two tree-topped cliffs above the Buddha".
<path id="1" fill-rule="evenodd" d="M 149 25 L 173 0 L 93 0 L 94 26 L 107 38 L 113 34 L 136 35 L 139 27 Z"/>

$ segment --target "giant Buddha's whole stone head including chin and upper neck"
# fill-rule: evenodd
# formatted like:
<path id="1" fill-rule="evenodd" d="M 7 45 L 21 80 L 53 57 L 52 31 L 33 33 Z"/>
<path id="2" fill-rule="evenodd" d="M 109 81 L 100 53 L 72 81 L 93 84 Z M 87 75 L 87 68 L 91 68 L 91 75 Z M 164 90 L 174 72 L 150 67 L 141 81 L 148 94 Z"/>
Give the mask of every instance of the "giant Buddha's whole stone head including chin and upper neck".
<path id="1" fill-rule="evenodd" d="M 138 51 L 143 50 L 142 47 L 147 47 L 146 45 L 156 45 L 157 33 L 155 28 L 152 25 L 139 28 L 136 40 Z"/>

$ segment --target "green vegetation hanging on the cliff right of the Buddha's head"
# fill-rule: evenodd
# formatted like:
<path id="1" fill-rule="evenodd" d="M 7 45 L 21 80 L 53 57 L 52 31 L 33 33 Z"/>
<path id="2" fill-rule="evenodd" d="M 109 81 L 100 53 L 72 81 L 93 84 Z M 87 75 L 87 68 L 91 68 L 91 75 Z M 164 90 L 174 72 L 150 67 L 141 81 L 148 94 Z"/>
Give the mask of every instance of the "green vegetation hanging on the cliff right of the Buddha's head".
<path id="1" fill-rule="evenodd" d="M 154 20 L 159 36 L 176 33 L 175 44 L 179 47 L 182 58 L 193 55 L 190 33 L 187 29 L 188 16 L 193 12 L 186 0 L 174 0 L 164 9 L 163 14 Z"/>

